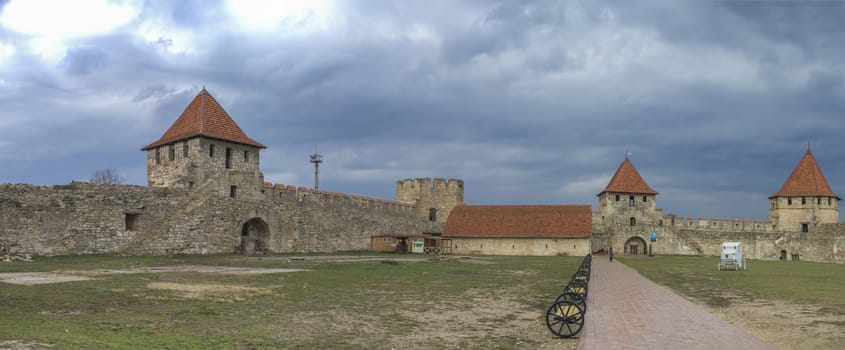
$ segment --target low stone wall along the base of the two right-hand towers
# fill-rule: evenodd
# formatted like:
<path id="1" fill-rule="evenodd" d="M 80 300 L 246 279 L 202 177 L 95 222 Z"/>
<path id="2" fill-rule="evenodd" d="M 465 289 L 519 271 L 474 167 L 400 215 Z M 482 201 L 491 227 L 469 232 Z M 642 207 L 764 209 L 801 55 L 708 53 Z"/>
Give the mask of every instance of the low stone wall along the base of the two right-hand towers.
<path id="1" fill-rule="evenodd" d="M 750 259 L 845 262 L 845 223 L 810 225 L 808 232 L 801 232 L 778 229 L 771 220 L 664 216 L 659 208 L 634 211 L 612 216 L 594 211 L 593 251 L 614 247 L 616 254 L 630 253 L 635 242 L 639 254 L 651 249 L 657 255 L 718 256 L 722 243 L 742 242 Z M 631 217 L 636 218 L 634 225 Z M 655 242 L 650 242 L 652 233 Z"/>

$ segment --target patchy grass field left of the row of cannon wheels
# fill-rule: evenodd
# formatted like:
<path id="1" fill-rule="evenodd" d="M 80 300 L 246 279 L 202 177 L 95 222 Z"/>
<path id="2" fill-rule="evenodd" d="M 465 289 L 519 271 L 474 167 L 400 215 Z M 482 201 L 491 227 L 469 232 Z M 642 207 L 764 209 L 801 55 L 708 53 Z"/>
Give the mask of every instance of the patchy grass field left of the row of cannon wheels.
<path id="1" fill-rule="evenodd" d="M 582 260 L 413 256 L 423 261 L 386 264 L 334 258 L 88 255 L 0 263 L 0 273 L 65 271 L 95 277 L 39 285 L 0 282 L 0 344 L 61 349 L 538 348 L 551 341 L 545 310 Z M 173 265 L 309 271 L 92 271 Z M 577 341 L 554 342 L 572 348 Z"/>

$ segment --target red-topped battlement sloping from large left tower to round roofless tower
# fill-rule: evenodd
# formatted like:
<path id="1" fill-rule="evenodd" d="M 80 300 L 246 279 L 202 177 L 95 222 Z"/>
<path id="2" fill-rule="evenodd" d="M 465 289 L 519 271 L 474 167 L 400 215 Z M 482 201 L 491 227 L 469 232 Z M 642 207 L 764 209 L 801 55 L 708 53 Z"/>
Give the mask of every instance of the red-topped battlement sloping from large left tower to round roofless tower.
<path id="1" fill-rule="evenodd" d="M 293 185 L 273 184 L 264 182 L 262 190 L 264 197 L 274 201 L 296 202 L 298 204 L 323 205 L 353 205 L 366 208 L 381 208 L 384 210 L 412 211 L 416 206 L 396 201 L 359 196 L 348 193 L 315 190 Z"/>

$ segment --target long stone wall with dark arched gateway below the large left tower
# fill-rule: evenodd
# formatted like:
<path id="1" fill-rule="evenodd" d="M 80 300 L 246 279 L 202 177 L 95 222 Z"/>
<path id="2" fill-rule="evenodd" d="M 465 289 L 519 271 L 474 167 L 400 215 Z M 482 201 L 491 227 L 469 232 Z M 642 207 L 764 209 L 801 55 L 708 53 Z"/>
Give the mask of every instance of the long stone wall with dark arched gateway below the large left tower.
<path id="1" fill-rule="evenodd" d="M 270 252 L 332 252 L 369 249 L 373 234 L 442 229 L 396 202 L 292 186 L 264 187 L 262 195 L 0 184 L 0 254 L 229 253 L 248 235 Z"/>

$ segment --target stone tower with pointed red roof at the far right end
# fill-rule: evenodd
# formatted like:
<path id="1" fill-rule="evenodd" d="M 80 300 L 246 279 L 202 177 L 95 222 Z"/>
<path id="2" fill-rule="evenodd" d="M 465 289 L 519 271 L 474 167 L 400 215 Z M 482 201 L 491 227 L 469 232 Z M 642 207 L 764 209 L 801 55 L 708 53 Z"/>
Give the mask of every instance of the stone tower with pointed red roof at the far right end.
<path id="1" fill-rule="evenodd" d="M 807 147 L 780 190 L 769 196 L 772 225 L 777 230 L 809 232 L 818 224 L 839 222 L 840 199 Z"/>

